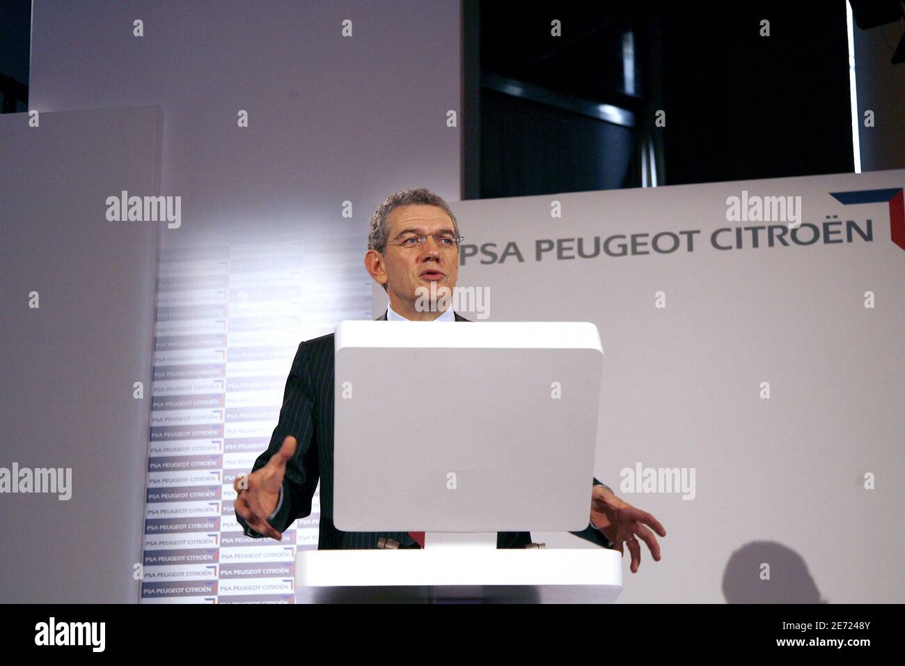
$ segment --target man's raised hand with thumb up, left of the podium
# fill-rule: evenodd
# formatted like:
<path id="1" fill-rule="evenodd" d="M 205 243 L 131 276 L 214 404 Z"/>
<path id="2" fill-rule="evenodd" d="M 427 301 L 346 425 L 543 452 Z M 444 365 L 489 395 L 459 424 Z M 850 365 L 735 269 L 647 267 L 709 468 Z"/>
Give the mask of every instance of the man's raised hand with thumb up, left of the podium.
<path id="1" fill-rule="evenodd" d="M 282 478 L 286 473 L 286 463 L 295 454 L 296 439 L 291 435 L 283 439 L 280 450 L 267 464 L 248 475 L 239 475 L 233 481 L 233 490 L 238 493 L 235 498 L 235 512 L 245 519 L 255 532 L 271 536 L 280 541 L 282 535 L 277 532 L 267 516 L 273 513 L 280 500 Z M 288 501 L 288 497 L 283 501 Z"/>

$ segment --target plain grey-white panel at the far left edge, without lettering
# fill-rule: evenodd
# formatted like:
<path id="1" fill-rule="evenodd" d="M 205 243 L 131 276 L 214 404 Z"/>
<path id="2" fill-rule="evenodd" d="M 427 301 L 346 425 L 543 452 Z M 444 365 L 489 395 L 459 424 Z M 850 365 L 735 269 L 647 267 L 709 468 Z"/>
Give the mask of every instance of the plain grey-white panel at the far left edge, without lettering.
<path id="1" fill-rule="evenodd" d="M 160 141 L 153 106 L 0 116 L 0 468 L 71 468 L 67 500 L 0 495 L 0 603 L 135 600 L 166 223 L 105 201 L 157 194 Z"/>

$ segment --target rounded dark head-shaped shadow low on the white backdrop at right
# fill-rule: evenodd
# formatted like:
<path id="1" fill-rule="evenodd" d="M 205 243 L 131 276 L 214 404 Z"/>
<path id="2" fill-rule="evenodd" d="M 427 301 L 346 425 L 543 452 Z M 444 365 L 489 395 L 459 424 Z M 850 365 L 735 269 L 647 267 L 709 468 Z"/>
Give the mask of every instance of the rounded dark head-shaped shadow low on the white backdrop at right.
<path id="1" fill-rule="evenodd" d="M 727 603 L 827 603 L 805 560 L 775 541 L 754 541 L 729 557 L 723 572 Z"/>

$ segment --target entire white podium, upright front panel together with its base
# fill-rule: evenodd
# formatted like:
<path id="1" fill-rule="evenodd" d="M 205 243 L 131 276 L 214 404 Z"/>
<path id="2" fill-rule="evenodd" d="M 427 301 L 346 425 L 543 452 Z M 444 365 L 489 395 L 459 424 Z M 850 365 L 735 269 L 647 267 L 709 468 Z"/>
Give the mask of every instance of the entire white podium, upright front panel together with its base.
<path id="1" fill-rule="evenodd" d="M 424 531 L 424 548 L 301 551 L 298 601 L 615 600 L 618 551 L 497 548 L 498 531 L 588 525 L 604 357 L 593 323 L 347 321 L 334 349 L 334 524 Z"/>

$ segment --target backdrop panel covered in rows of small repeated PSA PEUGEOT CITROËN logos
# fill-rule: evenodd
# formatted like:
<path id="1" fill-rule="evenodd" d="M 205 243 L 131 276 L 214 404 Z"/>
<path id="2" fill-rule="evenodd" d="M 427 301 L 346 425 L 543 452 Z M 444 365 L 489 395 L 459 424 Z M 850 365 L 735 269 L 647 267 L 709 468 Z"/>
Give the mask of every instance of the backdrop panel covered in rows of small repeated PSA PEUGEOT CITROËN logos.
<path id="1" fill-rule="evenodd" d="M 318 545 L 319 492 L 281 542 L 252 539 L 233 479 L 267 449 L 300 341 L 370 315 L 359 259 L 297 236 L 161 251 L 143 603 L 293 603 L 295 554 Z"/>

